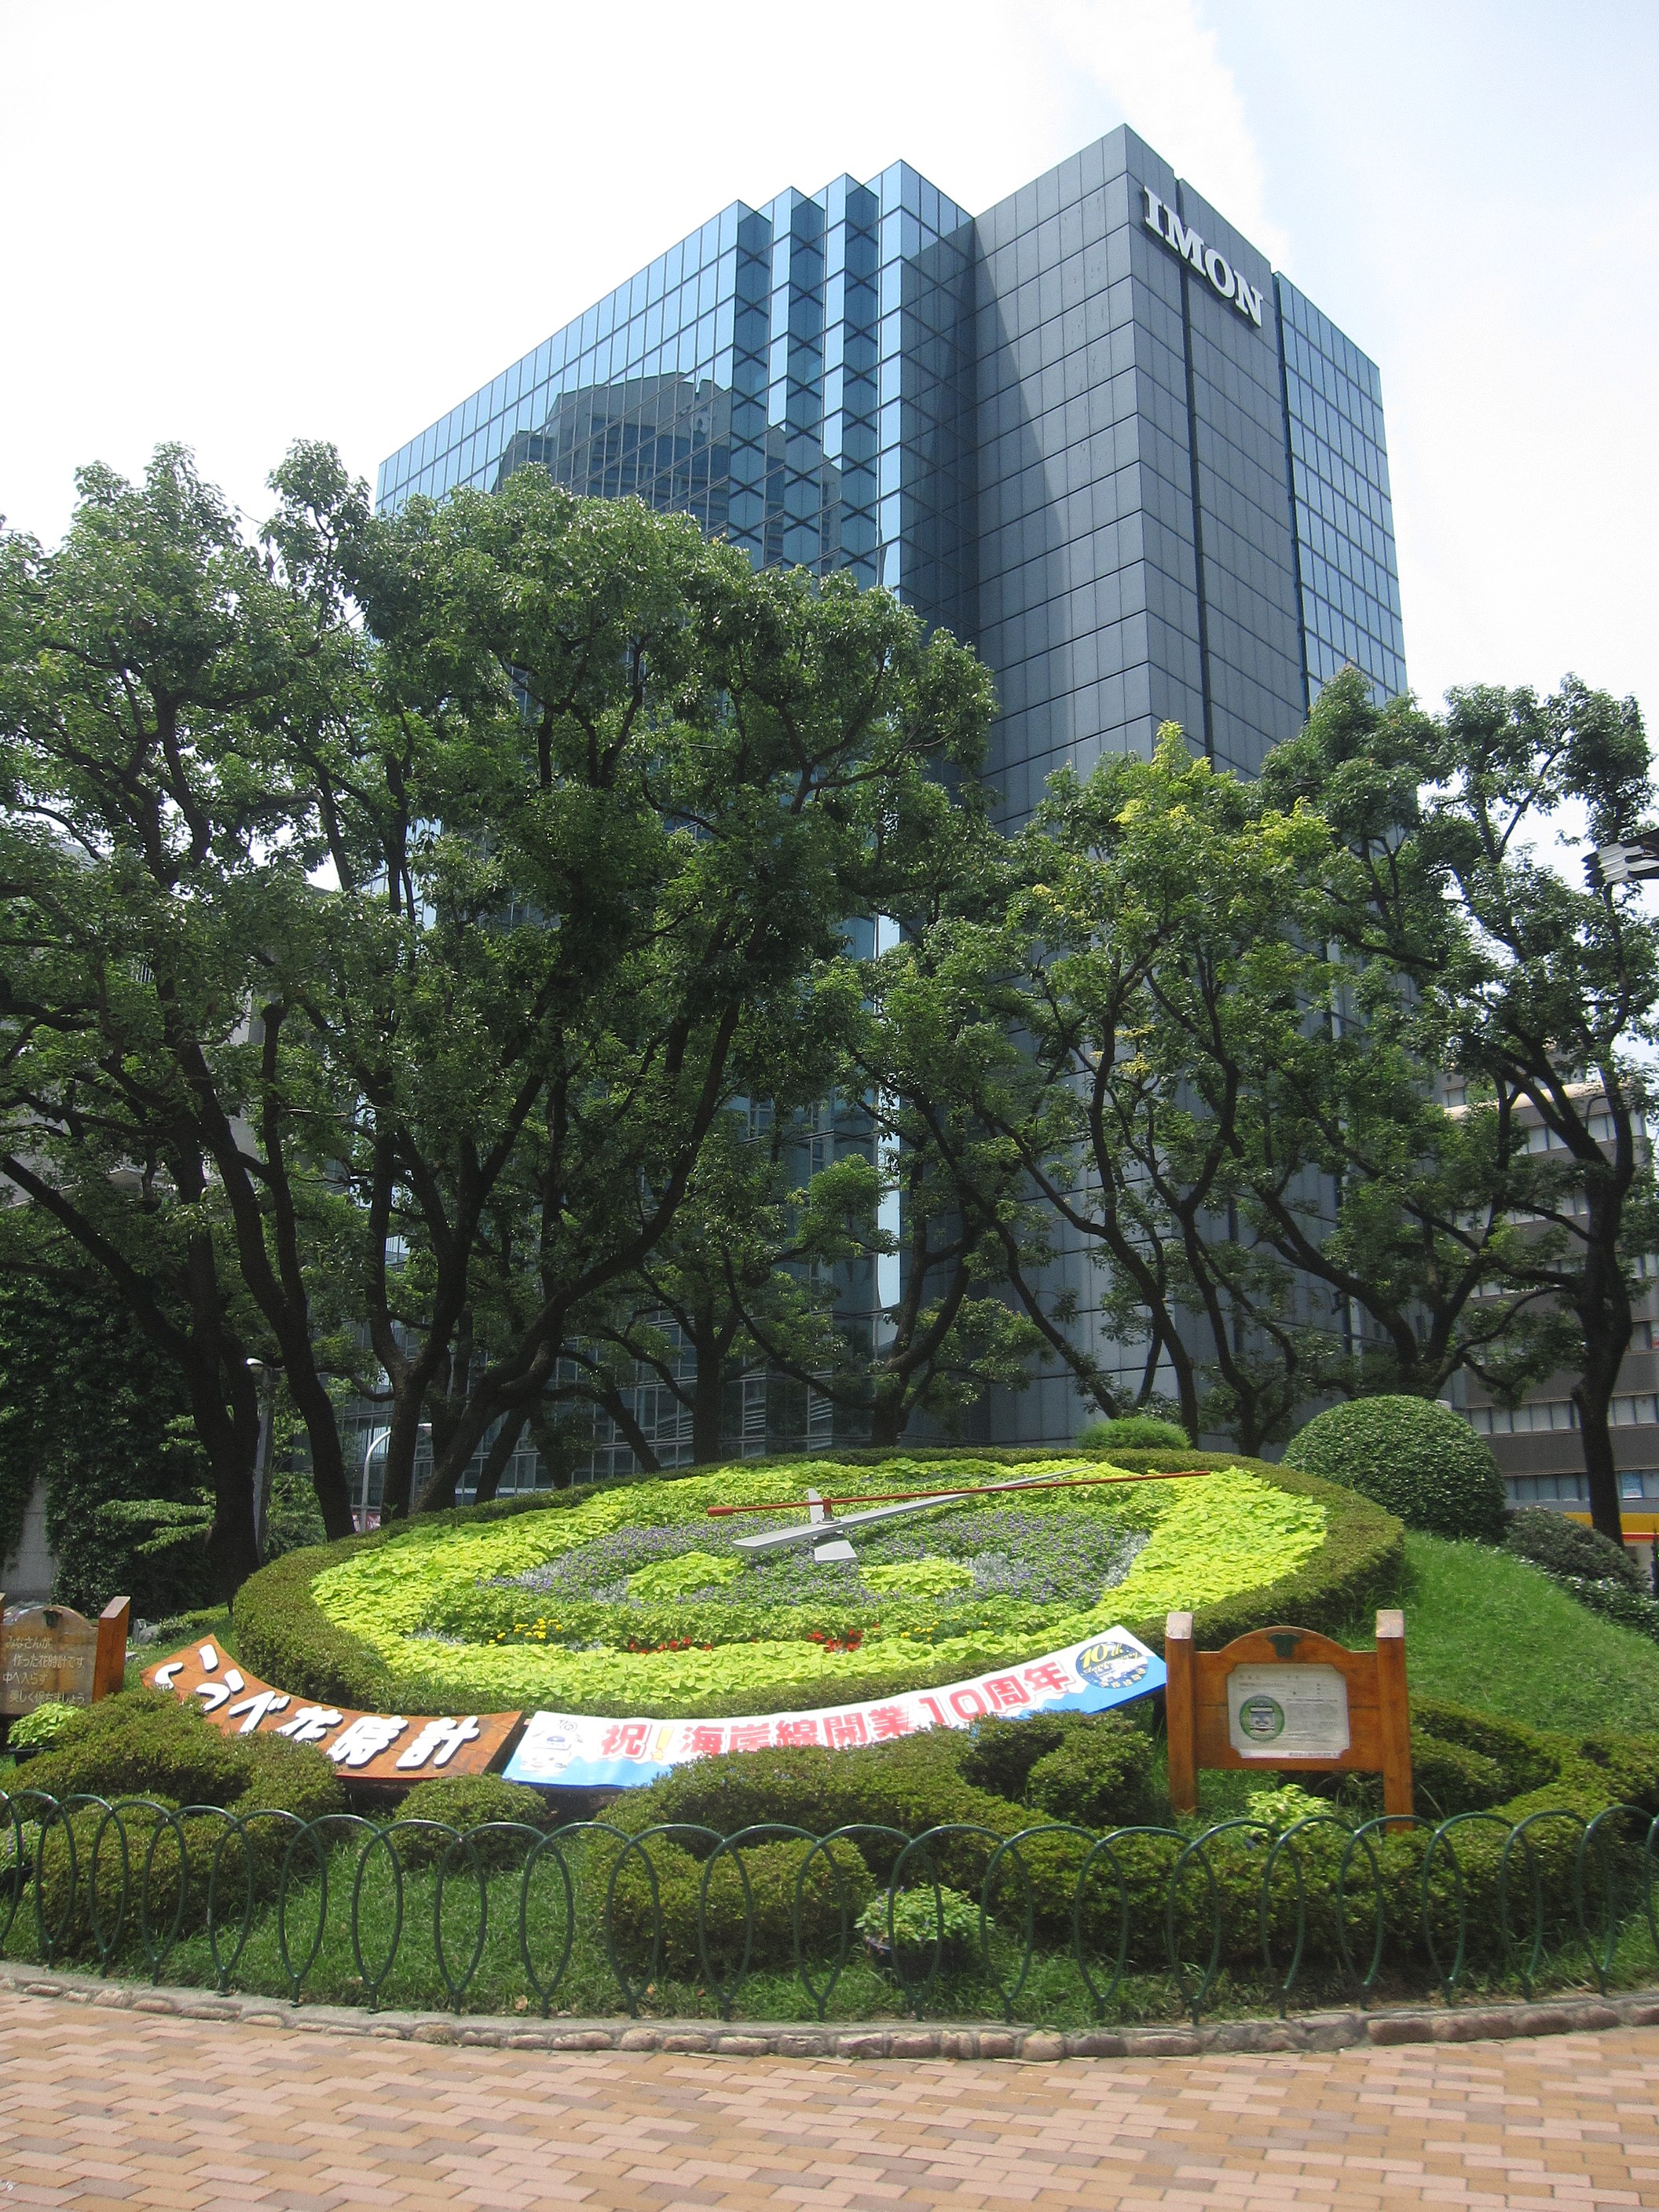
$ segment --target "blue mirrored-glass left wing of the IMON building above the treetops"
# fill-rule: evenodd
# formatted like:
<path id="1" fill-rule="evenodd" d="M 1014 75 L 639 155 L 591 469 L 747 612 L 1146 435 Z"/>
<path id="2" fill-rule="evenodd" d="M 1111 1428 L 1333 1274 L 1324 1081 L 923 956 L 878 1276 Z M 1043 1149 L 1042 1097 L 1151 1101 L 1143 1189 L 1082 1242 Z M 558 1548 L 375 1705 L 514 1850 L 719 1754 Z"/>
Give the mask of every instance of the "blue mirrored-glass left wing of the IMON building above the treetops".
<path id="1" fill-rule="evenodd" d="M 535 462 L 971 635 L 971 252 L 905 164 L 732 206 L 411 438 L 380 507 Z"/>

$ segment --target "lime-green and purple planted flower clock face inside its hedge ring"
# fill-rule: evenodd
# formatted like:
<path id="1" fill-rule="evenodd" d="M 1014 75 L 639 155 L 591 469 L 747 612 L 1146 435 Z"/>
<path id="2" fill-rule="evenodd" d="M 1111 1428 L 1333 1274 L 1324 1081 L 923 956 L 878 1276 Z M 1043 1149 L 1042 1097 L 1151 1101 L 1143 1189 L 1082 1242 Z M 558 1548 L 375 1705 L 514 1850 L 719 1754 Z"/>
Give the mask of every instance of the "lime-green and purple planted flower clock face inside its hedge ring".
<path id="1" fill-rule="evenodd" d="M 416 1522 L 327 1566 L 312 1597 L 376 1648 L 409 1710 L 714 1717 L 980 1674 L 1279 1582 L 1325 1537 L 1318 1500 L 1237 1467 L 1064 1480 L 1110 1473 L 958 1455 L 721 1467 L 504 1520 Z M 969 1495 L 856 1520 L 865 1495 L 929 1486 Z M 836 1528 L 790 1542 L 814 1491 L 843 1502 Z M 792 1509 L 710 1513 L 774 1502 Z M 757 1546 L 761 1533 L 785 1540 Z"/>

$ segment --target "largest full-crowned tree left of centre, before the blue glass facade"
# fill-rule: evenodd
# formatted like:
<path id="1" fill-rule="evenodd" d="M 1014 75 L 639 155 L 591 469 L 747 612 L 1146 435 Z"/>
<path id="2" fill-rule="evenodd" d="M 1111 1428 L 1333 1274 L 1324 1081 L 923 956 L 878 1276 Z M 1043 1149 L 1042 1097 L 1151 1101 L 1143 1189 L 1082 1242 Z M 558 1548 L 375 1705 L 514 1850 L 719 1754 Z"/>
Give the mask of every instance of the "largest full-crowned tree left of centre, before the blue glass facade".
<path id="1" fill-rule="evenodd" d="M 363 1102 L 396 1515 L 420 1420 L 436 1504 L 659 1252 L 721 1115 L 834 1037 L 845 922 L 880 898 L 900 801 L 978 761 L 991 695 L 885 593 L 757 573 L 684 518 L 540 471 L 411 502 L 356 573 L 405 745 L 380 838 L 405 891 L 396 958 L 307 1013 Z M 380 898 L 336 865 L 336 902 Z M 515 1256 L 484 1325 L 489 1239 Z"/>

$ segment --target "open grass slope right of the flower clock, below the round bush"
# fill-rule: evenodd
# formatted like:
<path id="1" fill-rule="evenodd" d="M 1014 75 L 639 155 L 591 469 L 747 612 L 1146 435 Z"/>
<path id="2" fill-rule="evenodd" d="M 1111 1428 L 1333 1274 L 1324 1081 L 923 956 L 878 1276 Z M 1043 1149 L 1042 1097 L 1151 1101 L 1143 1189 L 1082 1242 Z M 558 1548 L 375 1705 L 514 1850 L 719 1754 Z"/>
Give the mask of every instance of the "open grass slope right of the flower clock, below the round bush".
<path id="1" fill-rule="evenodd" d="M 1405 1557 L 1413 1690 L 1575 1736 L 1659 1732 L 1659 1644 L 1489 1544 L 1407 1535 Z"/>

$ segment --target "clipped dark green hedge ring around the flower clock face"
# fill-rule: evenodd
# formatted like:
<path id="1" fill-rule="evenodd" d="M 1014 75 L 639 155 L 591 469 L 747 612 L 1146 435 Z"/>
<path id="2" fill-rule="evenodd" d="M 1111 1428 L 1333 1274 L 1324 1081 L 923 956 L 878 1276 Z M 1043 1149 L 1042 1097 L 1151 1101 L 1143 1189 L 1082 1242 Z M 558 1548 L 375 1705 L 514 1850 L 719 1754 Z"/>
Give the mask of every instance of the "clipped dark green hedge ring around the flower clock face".
<path id="1" fill-rule="evenodd" d="M 1192 1635 L 1203 1650 L 1219 1650 L 1245 1630 L 1261 1628 L 1267 1621 L 1294 1621 L 1298 1628 L 1316 1628 L 1323 1635 L 1343 1635 L 1345 1630 L 1356 1628 L 1365 1630 L 1369 1628 L 1365 1615 L 1378 1606 L 1398 1601 L 1400 1595 L 1400 1579 L 1405 1571 L 1402 1522 L 1398 1522 L 1391 1513 L 1385 1513 L 1383 1506 L 1374 1504 L 1369 1498 L 1363 1498 L 1358 1491 L 1345 1489 L 1338 1482 L 1325 1482 L 1318 1475 L 1305 1475 L 1290 1467 L 1276 1467 L 1270 1460 L 1252 1460 L 1237 1451 L 1079 1453 L 1077 1449 L 1062 1451 L 1057 1447 L 1024 1449 L 1004 1444 L 975 1449 L 971 1444 L 958 1444 L 933 1449 L 902 1444 L 891 1451 L 843 1447 L 838 1451 L 814 1453 L 814 1458 L 838 1467 L 880 1467 L 898 1458 L 914 1460 L 918 1453 L 940 1462 L 978 1460 L 1000 1467 L 1031 1464 L 1037 1460 L 1075 1462 L 1079 1458 L 1102 1458 L 1113 1467 L 1124 1467 L 1128 1473 L 1175 1473 L 1177 1469 L 1190 1467 L 1197 1458 L 1201 1458 L 1212 1469 L 1241 1467 L 1274 1489 L 1290 1491 L 1296 1498 L 1318 1500 L 1325 1506 L 1327 1517 L 1325 1542 L 1314 1557 L 1303 1562 L 1303 1566 L 1294 1573 L 1283 1575 L 1279 1582 L 1263 1584 L 1254 1590 L 1241 1590 L 1237 1597 L 1219 1599 L 1212 1606 L 1201 1606 L 1192 1619 Z M 745 1460 L 743 1467 L 794 1467 L 799 1460 L 801 1453 L 790 1453 L 787 1458 Z M 515 1513 L 562 1511 L 577 1506 L 602 1491 L 633 1489 L 639 1480 L 672 1482 L 708 1473 L 708 1467 L 684 1467 L 648 1478 L 626 1475 L 615 1482 L 573 1484 L 568 1491 L 535 1491 L 529 1498 L 498 1500 L 487 1506 L 458 1506 L 442 1515 L 416 1515 L 416 1520 L 398 1522 L 392 1528 L 374 1528 L 367 1535 L 343 1537 L 336 1544 L 290 1551 L 270 1566 L 263 1566 L 257 1575 L 250 1575 L 241 1590 L 237 1590 L 232 1624 L 239 1657 L 265 1681 L 301 1697 L 332 1699 L 336 1703 L 358 1705 L 365 1710 L 394 1710 L 400 1701 L 407 1701 L 416 1683 L 411 1677 L 394 1679 L 389 1666 L 372 1644 L 352 1635 L 349 1628 L 341 1628 L 338 1621 L 332 1621 L 323 1613 L 312 1597 L 312 1584 L 327 1566 L 334 1566 L 338 1559 L 354 1557 L 365 1546 L 392 1542 L 405 1528 L 416 1528 L 438 1520 L 453 1526 L 467 1526 L 476 1522 L 507 1520 Z M 1157 1619 L 1124 1621 L 1124 1626 L 1152 1650 L 1164 1650 L 1161 1615 Z M 938 1668 L 918 1674 L 911 1688 L 931 1690 L 940 1683 L 956 1681 L 958 1668 L 960 1661 L 945 1659 Z M 860 1699 L 885 1697 L 889 1690 L 891 1681 L 887 1674 L 872 1674 L 867 1681 L 849 1679 L 836 1686 L 836 1701 L 858 1703 Z M 690 1719 L 717 1719 L 721 1708 L 732 1712 L 781 1712 L 790 1708 L 794 1697 L 799 1697 L 796 1688 L 781 1688 L 779 1692 L 734 1692 L 734 1699 L 730 1701 L 699 1701 L 703 1710 L 690 1714 Z M 535 1699 L 529 1703 L 533 1705 Z M 684 1719 L 686 1714 L 661 1717 Z"/>

